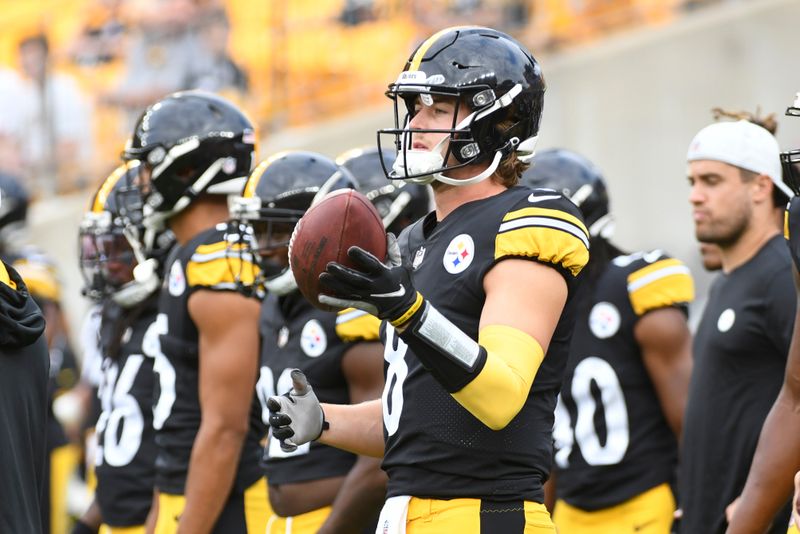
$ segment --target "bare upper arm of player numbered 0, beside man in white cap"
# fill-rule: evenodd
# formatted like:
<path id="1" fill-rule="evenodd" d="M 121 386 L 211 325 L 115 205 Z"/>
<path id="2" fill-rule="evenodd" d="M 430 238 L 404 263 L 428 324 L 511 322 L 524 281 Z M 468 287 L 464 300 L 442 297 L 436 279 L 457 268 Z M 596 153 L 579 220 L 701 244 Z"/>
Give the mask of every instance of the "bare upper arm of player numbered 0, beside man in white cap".
<path id="1" fill-rule="evenodd" d="M 667 423 L 680 439 L 692 373 L 692 335 L 686 315 L 672 307 L 653 310 L 637 321 L 633 335 Z"/>

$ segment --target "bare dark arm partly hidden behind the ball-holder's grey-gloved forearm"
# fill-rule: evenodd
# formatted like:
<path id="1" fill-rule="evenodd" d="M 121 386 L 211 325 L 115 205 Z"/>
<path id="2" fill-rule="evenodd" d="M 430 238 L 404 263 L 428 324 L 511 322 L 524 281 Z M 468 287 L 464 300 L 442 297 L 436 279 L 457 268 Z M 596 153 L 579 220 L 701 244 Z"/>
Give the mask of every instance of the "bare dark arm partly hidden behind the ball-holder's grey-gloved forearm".
<path id="1" fill-rule="evenodd" d="M 352 345 L 342 359 L 342 371 L 351 402 L 379 399 L 383 389 L 383 345 L 375 342 Z M 386 481 L 380 458 L 359 456 L 319 532 L 363 530 L 383 504 Z"/>

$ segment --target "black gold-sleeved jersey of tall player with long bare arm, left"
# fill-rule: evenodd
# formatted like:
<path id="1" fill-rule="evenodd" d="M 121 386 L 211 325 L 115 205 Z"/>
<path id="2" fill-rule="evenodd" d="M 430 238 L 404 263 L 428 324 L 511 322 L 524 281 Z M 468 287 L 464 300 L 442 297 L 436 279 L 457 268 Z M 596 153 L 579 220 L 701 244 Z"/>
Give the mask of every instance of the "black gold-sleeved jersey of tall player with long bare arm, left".
<path id="1" fill-rule="evenodd" d="M 235 291 L 234 271 L 226 250 L 224 224 L 204 230 L 170 254 L 158 317 L 152 331 L 158 334 L 145 351 L 155 353 L 157 402 L 153 407 L 156 429 L 156 486 L 165 493 L 183 494 L 189 459 L 200 428 L 198 392 L 198 332 L 189 315 L 189 297 L 197 290 Z M 237 260 L 238 261 L 238 260 Z M 254 267 L 250 267 L 253 268 Z M 238 272 L 238 271 L 237 271 Z M 243 492 L 261 475 L 259 440 L 266 434 L 255 394 L 250 429 L 239 457 L 233 491 Z"/>

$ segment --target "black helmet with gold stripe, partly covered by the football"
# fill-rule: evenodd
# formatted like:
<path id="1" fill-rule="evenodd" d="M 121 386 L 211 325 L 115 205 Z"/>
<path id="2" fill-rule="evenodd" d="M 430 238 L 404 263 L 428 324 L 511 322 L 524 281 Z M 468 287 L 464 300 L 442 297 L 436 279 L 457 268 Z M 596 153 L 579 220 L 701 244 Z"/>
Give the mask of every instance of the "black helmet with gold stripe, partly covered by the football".
<path id="1" fill-rule="evenodd" d="M 246 259 L 254 260 L 261 273 L 254 285 L 272 293 L 285 295 L 297 288 L 288 254 L 280 262 L 270 259 L 275 251 L 289 246 L 297 221 L 308 208 L 327 193 L 337 189 L 358 189 L 350 171 L 316 152 L 279 152 L 259 164 L 250 174 L 241 196 L 229 201 L 231 247 Z M 235 254 L 229 254 L 235 257 Z M 239 262 L 242 265 L 243 262 Z M 236 273 L 235 273 L 236 274 Z M 249 273 L 237 279 L 247 292 Z"/>

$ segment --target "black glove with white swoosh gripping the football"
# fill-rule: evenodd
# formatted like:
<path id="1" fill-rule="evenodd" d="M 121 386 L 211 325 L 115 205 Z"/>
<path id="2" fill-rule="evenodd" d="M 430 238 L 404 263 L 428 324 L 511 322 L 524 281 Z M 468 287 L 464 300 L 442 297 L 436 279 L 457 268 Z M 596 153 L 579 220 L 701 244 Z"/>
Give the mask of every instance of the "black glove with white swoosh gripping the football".
<path id="1" fill-rule="evenodd" d="M 347 256 L 359 270 L 329 263 L 319 281 L 333 296 L 321 294 L 319 301 L 338 308 L 358 308 L 392 323 L 418 308 L 422 297 L 414 289 L 408 269 L 400 263 L 400 247 L 392 234 L 388 236 L 388 250 L 384 264 L 366 250 L 350 247 Z"/>

